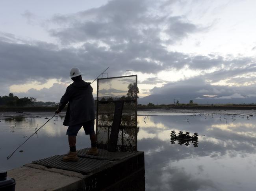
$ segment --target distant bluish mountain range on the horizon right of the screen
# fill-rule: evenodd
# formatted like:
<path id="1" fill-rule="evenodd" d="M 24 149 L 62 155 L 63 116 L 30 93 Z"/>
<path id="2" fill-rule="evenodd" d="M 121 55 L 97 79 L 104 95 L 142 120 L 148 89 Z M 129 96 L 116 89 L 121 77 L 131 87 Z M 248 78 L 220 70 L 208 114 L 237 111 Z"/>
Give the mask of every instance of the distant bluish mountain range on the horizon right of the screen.
<path id="1" fill-rule="evenodd" d="M 256 97 L 245 98 L 210 98 L 192 94 L 186 95 L 149 95 L 138 99 L 138 104 L 173 104 L 175 101 L 179 101 L 180 104 L 188 104 L 189 100 L 193 100 L 193 103 L 197 104 L 251 104 L 256 103 Z"/>

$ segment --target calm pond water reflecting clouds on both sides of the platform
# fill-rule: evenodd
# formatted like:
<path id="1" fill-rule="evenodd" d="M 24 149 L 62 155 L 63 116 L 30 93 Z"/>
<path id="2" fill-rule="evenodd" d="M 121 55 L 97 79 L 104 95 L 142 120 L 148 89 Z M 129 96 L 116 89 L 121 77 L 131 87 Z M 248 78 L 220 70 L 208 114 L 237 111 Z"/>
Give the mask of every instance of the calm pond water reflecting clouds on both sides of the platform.
<path id="1" fill-rule="evenodd" d="M 243 111 L 244 114 L 246 111 Z M 48 116 L 51 116 L 48 113 Z M 54 117 L 37 135 L 10 155 L 35 128 L 42 117 L 0 118 L 0 170 L 33 160 L 62 155 L 69 150 L 64 118 Z M 246 115 L 210 113 L 138 112 L 138 150 L 145 152 L 147 191 L 253 191 L 256 187 L 256 118 Z M 198 133 L 198 145 L 171 143 L 171 131 Z M 24 137 L 27 136 L 27 137 Z M 81 129 L 77 149 L 90 147 Z M 19 152 L 23 150 L 23 152 Z"/>

